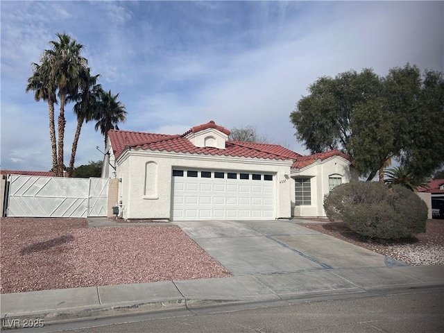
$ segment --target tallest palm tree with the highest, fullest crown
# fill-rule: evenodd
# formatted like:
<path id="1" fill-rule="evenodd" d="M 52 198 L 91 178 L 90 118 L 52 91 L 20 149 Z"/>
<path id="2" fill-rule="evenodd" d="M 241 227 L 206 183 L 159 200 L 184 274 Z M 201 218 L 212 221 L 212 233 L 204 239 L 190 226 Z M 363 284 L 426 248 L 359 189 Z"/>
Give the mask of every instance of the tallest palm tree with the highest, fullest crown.
<path id="1" fill-rule="evenodd" d="M 51 40 L 52 49 L 46 50 L 51 71 L 49 80 L 58 89 L 60 113 L 58 115 L 58 168 L 56 176 L 63 176 L 63 144 L 65 137 L 65 103 L 69 94 L 78 90 L 80 72 L 87 66 L 86 58 L 80 56 L 82 44 L 71 39 L 66 33 L 57 33 L 58 40 Z"/>

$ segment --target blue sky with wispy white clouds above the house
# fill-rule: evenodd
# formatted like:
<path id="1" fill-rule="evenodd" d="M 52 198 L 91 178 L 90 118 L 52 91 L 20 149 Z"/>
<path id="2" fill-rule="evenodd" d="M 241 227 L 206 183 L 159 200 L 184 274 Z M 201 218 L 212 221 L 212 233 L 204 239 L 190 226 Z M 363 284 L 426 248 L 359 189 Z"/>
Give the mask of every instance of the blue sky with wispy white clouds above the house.
<path id="1" fill-rule="evenodd" d="M 48 105 L 25 93 L 56 33 L 126 107 L 121 130 L 182 134 L 210 120 L 255 126 L 307 155 L 290 113 L 321 76 L 409 62 L 444 71 L 444 1 L 1 1 L 0 168 L 51 169 Z M 76 128 L 65 108 L 65 164 Z M 58 106 L 56 105 L 56 117 Z M 103 159 L 83 125 L 76 167 Z"/>

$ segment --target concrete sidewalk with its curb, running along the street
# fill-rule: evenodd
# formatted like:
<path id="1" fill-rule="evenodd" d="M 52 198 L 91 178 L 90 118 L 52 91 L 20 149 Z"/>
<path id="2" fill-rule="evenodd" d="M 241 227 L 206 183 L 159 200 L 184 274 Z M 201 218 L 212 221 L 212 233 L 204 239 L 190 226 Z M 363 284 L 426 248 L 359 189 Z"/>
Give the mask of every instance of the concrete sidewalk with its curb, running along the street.
<path id="1" fill-rule="evenodd" d="M 444 266 L 337 268 L 242 275 L 207 280 L 31 291 L 1 294 L 3 323 L 40 319 L 45 325 L 170 309 L 198 309 L 384 289 L 444 287 Z M 3 325 L 3 328 L 5 326 Z"/>

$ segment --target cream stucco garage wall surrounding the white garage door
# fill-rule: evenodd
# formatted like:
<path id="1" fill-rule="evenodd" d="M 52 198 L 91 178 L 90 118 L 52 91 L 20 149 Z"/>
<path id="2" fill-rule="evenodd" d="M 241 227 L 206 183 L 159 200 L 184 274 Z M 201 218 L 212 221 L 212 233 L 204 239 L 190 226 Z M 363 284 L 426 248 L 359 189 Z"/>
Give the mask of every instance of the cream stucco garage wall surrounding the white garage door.
<path id="1" fill-rule="evenodd" d="M 117 177 L 125 219 L 170 219 L 173 168 L 262 171 L 275 174 L 275 219 L 291 216 L 291 161 L 170 152 L 126 151 L 119 157 Z M 144 196 L 147 162 L 157 164 L 157 196 Z"/>

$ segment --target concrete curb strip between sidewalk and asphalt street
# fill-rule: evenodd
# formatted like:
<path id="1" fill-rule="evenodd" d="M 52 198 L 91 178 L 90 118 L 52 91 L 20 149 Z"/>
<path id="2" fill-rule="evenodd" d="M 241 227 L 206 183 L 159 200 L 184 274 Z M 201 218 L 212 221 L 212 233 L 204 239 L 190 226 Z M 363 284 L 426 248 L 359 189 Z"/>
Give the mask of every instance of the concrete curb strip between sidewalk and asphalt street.
<path id="1" fill-rule="evenodd" d="M 334 300 L 343 298 L 361 298 L 393 293 L 416 292 L 422 289 L 443 288 L 443 282 L 420 282 L 416 284 L 395 284 L 370 288 L 333 289 L 305 293 L 289 293 L 257 296 L 242 296 L 239 298 L 166 298 L 163 300 L 141 300 L 134 302 L 118 302 L 114 304 L 90 305 L 82 307 L 67 307 L 64 309 L 47 309 L 41 311 L 18 312 L 1 315 L 2 330 L 13 329 L 8 323 L 24 323 L 24 321 L 40 320 L 44 325 L 71 323 L 74 321 L 96 320 L 116 316 L 134 314 L 153 314 L 173 310 L 205 311 L 209 308 L 223 308 L 224 306 L 239 306 L 244 309 L 261 307 L 262 303 L 284 302 L 288 305 L 300 302 L 316 302 L 320 300 Z M 9 325 L 10 326 L 10 325 Z"/>

